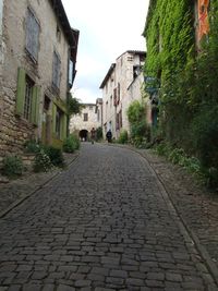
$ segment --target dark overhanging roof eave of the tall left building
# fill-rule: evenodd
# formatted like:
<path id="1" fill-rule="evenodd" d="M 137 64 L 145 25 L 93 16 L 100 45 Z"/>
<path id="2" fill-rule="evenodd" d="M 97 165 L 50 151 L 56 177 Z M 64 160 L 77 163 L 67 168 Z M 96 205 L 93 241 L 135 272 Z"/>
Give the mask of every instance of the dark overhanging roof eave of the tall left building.
<path id="1" fill-rule="evenodd" d="M 69 23 L 69 20 L 68 20 L 68 16 L 65 14 L 65 10 L 63 8 L 61 0 L 50 0 L 50 3 L 53 8 L 53 11 L 55 11 L 58 20 L 60 21 L 60 24 L 63 28 L 63 32 L 65 34 L 65 37 L 66 37 L 70 46 L 73 48 L 76 48 L 80 31 L 71 28 L 71 25 Z"/>

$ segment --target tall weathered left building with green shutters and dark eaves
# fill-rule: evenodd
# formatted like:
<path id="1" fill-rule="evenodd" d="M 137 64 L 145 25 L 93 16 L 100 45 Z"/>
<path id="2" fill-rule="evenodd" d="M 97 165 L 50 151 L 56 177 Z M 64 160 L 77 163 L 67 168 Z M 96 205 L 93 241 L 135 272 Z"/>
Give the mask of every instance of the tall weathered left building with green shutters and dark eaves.
<path id="1" fill-rule="evenodd" d="M 0 157 L 33 138 L 61 146 L 78 34 L 61 0 L 0 1 Z"/>

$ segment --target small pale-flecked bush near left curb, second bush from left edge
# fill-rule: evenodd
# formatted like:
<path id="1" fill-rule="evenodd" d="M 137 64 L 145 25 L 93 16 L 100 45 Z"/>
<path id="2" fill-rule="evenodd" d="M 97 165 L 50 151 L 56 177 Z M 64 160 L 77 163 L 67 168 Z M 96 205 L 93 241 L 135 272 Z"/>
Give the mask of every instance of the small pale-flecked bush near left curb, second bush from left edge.
<path id="1" fill-rule="evenodd" d="M 35 172 L 48 172 L 52 168 L 49 156 L 45 153 L 44 148 L 40 148 L 34 159 L 34 171 Z"/>

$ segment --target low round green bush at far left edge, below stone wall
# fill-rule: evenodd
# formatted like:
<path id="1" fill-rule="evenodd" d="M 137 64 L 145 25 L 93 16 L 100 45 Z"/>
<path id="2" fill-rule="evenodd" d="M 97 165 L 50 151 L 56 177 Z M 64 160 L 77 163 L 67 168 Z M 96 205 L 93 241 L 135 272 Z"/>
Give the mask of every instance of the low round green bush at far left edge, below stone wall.
<path id="1" fill-rule="evenodd" d="M 2 174 L 9 178 L 22 175 L 24 166 L 21 157 L 7 156 L 2 161 Z"/>

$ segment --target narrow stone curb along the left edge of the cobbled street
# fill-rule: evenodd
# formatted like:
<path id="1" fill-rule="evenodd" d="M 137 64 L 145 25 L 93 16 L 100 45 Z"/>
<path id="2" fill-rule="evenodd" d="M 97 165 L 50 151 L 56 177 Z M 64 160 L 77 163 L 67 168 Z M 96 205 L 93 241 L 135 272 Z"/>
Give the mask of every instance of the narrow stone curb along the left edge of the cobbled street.
<path id="1" fill-rule="evenodd" d="M 66 169 L 78 158 L 78 156 L 80 156 L 80 151 L 76 153 L 75 157 L 73 157 L 73 159 L 71 160 L 71 162 L 69 162 L 66 165 Z M 51 182 L 56 177 L 58 177 L 61 173 L 62 173 L 62 171 L 55 172 L 51 177 L 48 178 L 48 180 L 46 180 L 43 184 L 36 186 L 36 189 L 33 190 L 29 194 L 27 194 L 27 195 L 23 196 L 22 198 L 13 202 L 9 207 L 7 207 L 7 209 L 0 211 L 0 219 L 3 218 L 4 216 L 7 216 L 11 210 L 13 210 L 15 207 L 17 207 L 19 205 L 21 205 L 24 201 L 26 201 L 27 198 L 29 198 L 37 191 L 39 191 L 41 187 L 44 187 L 45 185 L 47 185 L 49 182 Z"/>

